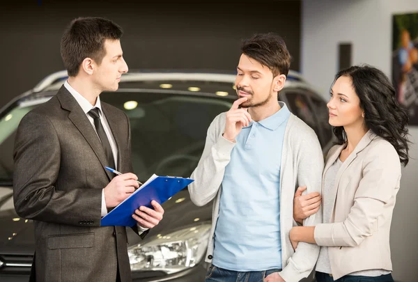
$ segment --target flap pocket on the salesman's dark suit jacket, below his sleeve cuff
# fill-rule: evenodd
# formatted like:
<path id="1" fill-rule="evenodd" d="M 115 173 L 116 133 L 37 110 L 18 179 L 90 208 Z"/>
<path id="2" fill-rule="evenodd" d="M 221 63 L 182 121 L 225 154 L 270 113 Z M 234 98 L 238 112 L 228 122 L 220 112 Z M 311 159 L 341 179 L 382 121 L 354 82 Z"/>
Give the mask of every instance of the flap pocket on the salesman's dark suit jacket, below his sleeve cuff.
<path id="1" fill-rule="evenodd" d="M 93 248 L 94 233 L 50 235 L 48 236 L 48 249 L 77 249 Z"/>

